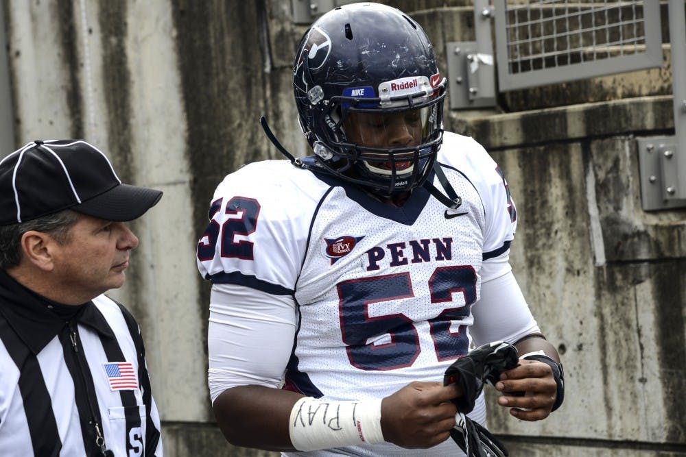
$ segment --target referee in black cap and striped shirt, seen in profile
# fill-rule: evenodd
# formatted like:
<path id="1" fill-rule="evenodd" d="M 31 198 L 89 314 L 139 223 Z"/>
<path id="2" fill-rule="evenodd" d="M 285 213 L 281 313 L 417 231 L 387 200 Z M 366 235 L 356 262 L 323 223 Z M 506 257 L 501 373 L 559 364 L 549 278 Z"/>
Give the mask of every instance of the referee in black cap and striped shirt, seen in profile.
<path id="1" fill-rule="evenodd" d="M 162 456 L 138 325 L 103 295 L 161 196 L 82 140 L 0 162 L 0 456 Z"/>

